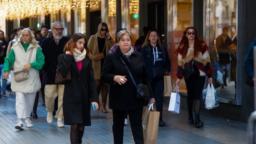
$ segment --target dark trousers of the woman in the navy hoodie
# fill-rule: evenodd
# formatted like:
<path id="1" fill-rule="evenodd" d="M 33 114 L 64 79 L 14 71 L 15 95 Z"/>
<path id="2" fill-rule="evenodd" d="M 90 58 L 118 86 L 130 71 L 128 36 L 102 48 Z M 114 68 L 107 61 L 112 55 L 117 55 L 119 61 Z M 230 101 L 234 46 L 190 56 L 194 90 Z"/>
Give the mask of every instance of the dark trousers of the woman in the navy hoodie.
<path id="1" fill-rule="evenodd" d="M 163 119 L 163 89 L 164 82 L 163 79 L 152 79 L 151 88 L 153 90 L 157 111 L 160 112 L 159 120 Z"/>

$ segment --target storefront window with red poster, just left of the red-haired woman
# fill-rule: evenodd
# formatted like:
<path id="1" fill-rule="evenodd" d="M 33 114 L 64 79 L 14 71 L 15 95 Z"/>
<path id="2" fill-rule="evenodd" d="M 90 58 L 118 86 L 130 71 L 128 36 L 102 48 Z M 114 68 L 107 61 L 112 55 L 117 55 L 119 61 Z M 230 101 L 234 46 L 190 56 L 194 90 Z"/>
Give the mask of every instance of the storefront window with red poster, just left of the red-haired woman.
<path id="1" fill-rule="evenodd" d="M 183 31 L 193 25 L 193 1 L 192 0 L 168 0 L 168 52 L 172 61 L 170 75 L 172 77 L 173 90 L 177 80 L 177 55 L 174 54 L 179 47 Z M 180 81 L 179 90 L 186 92 L 184 79 Z"/>

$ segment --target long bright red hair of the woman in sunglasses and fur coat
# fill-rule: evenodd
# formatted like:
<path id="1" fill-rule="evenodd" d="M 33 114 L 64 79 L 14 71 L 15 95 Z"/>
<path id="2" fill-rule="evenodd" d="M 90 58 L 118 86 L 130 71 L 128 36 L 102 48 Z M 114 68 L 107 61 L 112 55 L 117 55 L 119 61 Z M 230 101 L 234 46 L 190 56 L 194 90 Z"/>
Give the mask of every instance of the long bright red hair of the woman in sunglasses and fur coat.
<path id="1" fill-rule="evenodd" d="M 183 36 L 179 43 L 179 47 L 175 51 L 175 53 L 178 54 L 178 52 L 183 49 L 182 58 L 186 58 L 186 55 L 187 55 L 188 49 L 189 49 L 189 40 L 186 37 L 186 33 L 189 29 L 194 29 L 194 31 L 195 31 L 194 56 L 197 56 L 199 54 L 200 50 L 202 49 L 202 46 L 206 45 L 206 43 L 198 35 L 195 27 L 187 27 L 186 30 L 183 32 Z"/>

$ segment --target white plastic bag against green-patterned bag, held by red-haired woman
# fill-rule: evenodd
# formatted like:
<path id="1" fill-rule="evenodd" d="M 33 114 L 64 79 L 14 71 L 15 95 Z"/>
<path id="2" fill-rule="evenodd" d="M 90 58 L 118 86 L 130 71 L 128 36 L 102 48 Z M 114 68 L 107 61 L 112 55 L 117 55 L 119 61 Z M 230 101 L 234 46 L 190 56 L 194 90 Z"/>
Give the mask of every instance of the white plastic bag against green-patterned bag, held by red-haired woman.
<path id="1" fill-rule="evenodd" d="M 205 98 L 205 106 L 210 109 L 215 106 L 215 97 L 214 97 L 215 89 L 212 84 L 208 83 L 206 98 Z"/>

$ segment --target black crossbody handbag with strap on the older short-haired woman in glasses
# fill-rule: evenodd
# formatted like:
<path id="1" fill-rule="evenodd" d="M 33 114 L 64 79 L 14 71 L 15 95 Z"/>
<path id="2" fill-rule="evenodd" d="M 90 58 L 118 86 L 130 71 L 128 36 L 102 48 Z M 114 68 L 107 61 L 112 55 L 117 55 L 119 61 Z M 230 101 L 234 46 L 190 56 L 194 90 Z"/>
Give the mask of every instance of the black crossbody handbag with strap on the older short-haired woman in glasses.
<path id="1" fill-rule="evenodd" d="M 145 99 L 145 100 L 150 99 L 150 94 L 149 94 L 148 87 L 145 84 L 143 84 L 143 83 L 140 83 L 140 84 L 136 85 L 136 83 L 135 83 L 135 81 L 133 79 L 133 76 L 131 75 L 131 72 L 130 72 L 129 68 L 127 67 L 125 61 L 122 59 L 122 56 L 120 56 L 119 59 L 125 65 L 127 71 L 129 72 L 129 75 L 131 77 L 131 80 L 132 80 L 132 82 L 133 82 L 133 84 L 134 84 L 134 86 L 135 86 L 135 88 L 137 90 L 136 98 L 137 99 Z"/>

